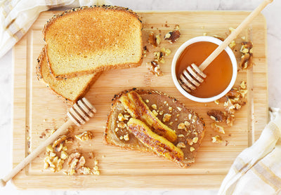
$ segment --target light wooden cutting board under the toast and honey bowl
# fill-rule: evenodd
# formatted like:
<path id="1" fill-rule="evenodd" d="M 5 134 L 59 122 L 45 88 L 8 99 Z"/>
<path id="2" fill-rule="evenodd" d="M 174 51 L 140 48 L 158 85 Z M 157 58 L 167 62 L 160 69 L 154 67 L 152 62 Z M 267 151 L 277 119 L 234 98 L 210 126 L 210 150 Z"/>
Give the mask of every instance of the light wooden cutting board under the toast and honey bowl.
<path id="1" fill-rule="evenodd" d="M 46 129 L 58 128 L 65 119 L 67 106 L 37 81 L 35 66 L 37 57 L 44 46 L 41 29 L 48 18 L 58 11 L 41 13 L 29 32 L 15 45 L 14 60 L 14 100 L 13 100 L 13 166 L 25 156 L 29 147 L 32 151 L 45 138 Z M 237 27 L 249 14 L 244 11 L 140 11 L 143 20 L 143 43 L 148 45 L 148 32 L 161 34 L 180 26 L 181 38 L 174 44 L 162 41 L 160 48 L 169 48 L 171 55 L 161 65 L 164 76 L 155 76 L 145 66 L 153 58 L 153 49 L 143 61 L 143 65 L 131 69 L 116 69 L 104 72 L 91 86 L 86 98 L 95 105 L 97 114 L 81 128 L 74 128 L 74 133 L 84 130 L 93 132 L 93 140 L 77 142 L 67 152 L 78 151 L 86 157 L 86 166 L 93 167 L 89 152 L 99 161 L 100 175 L 64 175 L 62 171 L 51 173 L 44 170 L 44 154 L 22 170 L 13 179 L 19 189 L 206 189 L 220 186 L 228 173 L 235 156 L 249 147 L 256 140 L 268 122 L 268 84 L 267 84 L 267 43 L 266 20 L 259 15 L 249 28 L 242 32 L 247 40 L 254 43 L 255 66 L 247 71 L 238 72 L 237 86 L 240 81 L 247 81 L 249 93 L 247 105 L 238 111 L 233 127 L 226 128 L 221 135 L 223 142 L 215 144 L 211 137 L 218 133 L 211 130 L 209 109 L 223 109 L 223 105 L 214 102 L 198 103 L 183 97 L 176 90 L 171 79 L 171 60 L 176 49 L 194 36 L 220 35 L 226 37 L 229 27 Z M 236 40 L 239 51 L 241 41 Z M 237 62 L 240 61 L 239 52 Z M 157 156 L 126 151 L 118 147 L 103 144 L 103 130 L 107 113 L 110 111 L 112 97 L 128 88 L 155 89 L 176 97 L 187 107 L 195 110 L 207 125 L 207 132 L 202 142 L 196 162 L 190 168 L 178 168 L 174 163 Z"/>

